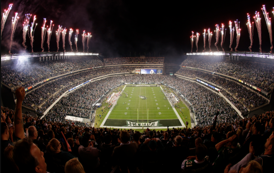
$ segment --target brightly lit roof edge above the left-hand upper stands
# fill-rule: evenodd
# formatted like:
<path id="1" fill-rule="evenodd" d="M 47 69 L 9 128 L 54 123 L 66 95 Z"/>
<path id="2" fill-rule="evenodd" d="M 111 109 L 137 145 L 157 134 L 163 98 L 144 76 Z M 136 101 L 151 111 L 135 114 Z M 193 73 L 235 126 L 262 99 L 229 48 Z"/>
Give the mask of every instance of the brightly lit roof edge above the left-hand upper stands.
<path id="1" fill-rule="evenodd" d="M 56 56 L 77 56 L 89 57 L 99 55 L 99 53 L 84 53 L 84 52 L 31 52 L 31 53 L 15 53 L 1 56 L 1 61 L 19 59 L 19 58 L 35 58 L 35 57 L 56 57 Z"/>

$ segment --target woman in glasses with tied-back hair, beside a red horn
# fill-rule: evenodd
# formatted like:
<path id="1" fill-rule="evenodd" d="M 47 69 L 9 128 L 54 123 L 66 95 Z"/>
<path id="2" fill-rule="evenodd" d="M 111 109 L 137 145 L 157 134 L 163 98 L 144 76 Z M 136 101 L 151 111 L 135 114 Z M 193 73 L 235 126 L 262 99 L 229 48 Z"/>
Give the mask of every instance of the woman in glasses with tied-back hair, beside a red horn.
<path id="1" fill-rule="evenodd" d="M 56 169 L 64 170 L 65 164 L 70 159 L 74 158 L 72 154 L 66 151 L 61 151 L 61 142 L 53 138 L 47 145 L 47 151 L 50 154 L 50 157 L 53 160 L 53 163 L 56 166 Z"/>

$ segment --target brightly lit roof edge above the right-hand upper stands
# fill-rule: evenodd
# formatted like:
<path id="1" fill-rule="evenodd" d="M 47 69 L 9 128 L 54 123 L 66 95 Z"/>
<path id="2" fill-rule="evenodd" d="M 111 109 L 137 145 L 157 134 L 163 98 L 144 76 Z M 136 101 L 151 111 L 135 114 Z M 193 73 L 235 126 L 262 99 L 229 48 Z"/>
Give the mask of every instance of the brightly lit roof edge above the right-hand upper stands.
<path id="1" fill-rule="evenodd" d="M 256 60 L 256 58 L 274 59 L 274 54 L 248 51 L 224 51 L 224 52 L 195 52 L 187 53 L 187 55 L 213 55 L 213 56 L 235 56 L 234 58 Z M 261 59 L 258 59 L 261 60 Z"/>

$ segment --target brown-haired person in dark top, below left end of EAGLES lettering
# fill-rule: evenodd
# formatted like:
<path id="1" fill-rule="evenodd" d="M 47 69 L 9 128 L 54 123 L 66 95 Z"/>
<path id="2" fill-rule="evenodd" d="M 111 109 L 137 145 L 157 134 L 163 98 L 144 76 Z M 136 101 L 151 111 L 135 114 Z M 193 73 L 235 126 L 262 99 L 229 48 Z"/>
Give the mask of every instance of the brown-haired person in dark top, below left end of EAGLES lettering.
<path id="1" fill-rule="evenodd" d="M 118 163 L 123 173 L 135 172 L 136 164 L 130 159 L 124 158 L 134 158 L 137 154 L 138 144 L 136 142 L 129 142 L 130 135 L 127 131 L 120 132 L 120 139 L 118 139 L 119 146 L 116 146 L 112 153 L 112 158 Z"/>

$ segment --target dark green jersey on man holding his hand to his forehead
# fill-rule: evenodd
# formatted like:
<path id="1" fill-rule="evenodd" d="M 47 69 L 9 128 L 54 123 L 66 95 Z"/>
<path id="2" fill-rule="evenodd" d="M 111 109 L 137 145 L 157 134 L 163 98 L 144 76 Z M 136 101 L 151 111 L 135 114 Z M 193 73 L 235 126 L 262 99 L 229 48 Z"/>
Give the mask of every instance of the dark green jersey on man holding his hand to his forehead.
<path id="1" fill-rule="evenodd" d="M 235 158 L 239 155 L 241 150 L 241 146 L 238 143 L 236 148 L 229 148 L 223 146 L 219 151 L 219 155 L 216 160 L 212 163 L 212 167 L 214 170 L 225 169 L 226 165 L 232 163 Z"/>

